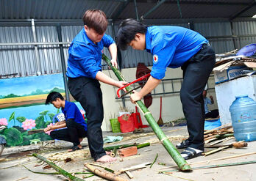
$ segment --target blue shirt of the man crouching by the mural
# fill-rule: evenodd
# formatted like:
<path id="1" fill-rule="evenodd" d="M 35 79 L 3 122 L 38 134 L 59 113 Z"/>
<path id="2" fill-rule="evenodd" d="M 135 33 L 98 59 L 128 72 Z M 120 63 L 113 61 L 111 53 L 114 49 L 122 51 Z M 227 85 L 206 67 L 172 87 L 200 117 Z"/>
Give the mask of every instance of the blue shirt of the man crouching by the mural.
<path id="1" fill-rule="evenodd" d="M 82 114 L 75 103 L 65 100 L 65 107 L 61 108 L 61 111 L 63 111 L 63 114 L 65 115 L 65 120 L 74 119 L 75 122 L 82 125 L 82 127 L 87 130 L 85 119 L 82 117 Z"/>

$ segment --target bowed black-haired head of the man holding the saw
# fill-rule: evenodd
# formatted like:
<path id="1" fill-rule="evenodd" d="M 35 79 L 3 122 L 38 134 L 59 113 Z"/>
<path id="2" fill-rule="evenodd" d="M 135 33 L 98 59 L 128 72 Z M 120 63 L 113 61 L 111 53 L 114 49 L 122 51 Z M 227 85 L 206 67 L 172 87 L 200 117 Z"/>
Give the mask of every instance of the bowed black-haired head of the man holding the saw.
<path id="1" fill-rule="evenodd" d="M 117 42 L 121 50 L 126 50 L 128 45 L 135 50 L 143 51 L 146 48 L 147 26 L 134 19 L 126 19 L 122 21 L 118 28 Z"/>

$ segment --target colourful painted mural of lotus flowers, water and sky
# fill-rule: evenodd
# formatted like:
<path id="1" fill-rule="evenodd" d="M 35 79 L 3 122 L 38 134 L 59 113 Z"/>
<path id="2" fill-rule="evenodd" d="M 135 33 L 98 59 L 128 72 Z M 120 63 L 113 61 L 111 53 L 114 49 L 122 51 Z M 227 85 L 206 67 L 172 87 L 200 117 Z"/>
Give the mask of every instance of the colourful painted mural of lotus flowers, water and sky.
<path id="1" fill-rule="evenodd" d="M 62 74 L 0 79 L 0 126 L 6 127 L 0 136 L 6 138 L 7 147 L 51 139 L 49 133 L 28 135 L 28 130 L 54 123 L 54 115 L 61 110 L 44 104 L 52 91 L 65 95 Z M 82 106 L 76 104 L 84 114 Z"/>

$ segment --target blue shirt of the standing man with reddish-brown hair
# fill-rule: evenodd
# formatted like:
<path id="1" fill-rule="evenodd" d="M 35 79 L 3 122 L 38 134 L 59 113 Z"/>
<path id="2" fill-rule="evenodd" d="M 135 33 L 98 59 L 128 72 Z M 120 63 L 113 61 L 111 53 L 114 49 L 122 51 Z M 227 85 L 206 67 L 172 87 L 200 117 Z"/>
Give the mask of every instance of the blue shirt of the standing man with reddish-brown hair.
<path id="1" fill-rule="evenodd" d="M 94 44 L 82 29 L 74 38 L 68 49 L 68 69 L 70 78 L 95 78 L 102 71 L 102 53 L 104 47 L 115 43 L 113 38 L 104 34 L 99 43 Z"/>

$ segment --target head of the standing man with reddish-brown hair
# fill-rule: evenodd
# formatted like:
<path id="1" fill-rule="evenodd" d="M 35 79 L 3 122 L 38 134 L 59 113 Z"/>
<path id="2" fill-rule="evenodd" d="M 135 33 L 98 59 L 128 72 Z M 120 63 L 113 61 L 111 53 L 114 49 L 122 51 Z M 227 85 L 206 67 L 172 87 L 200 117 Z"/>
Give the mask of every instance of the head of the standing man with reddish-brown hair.
<path id="1" fill-rule="evenodd" d="M 102 40 L 104 32 L 107 30 L 107 17 L 101 10 L 87 10 L 82 17 L 85 32 L 93 43 Z"/>

